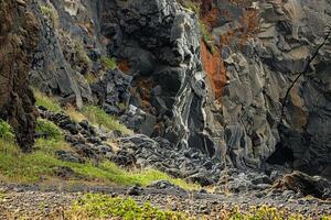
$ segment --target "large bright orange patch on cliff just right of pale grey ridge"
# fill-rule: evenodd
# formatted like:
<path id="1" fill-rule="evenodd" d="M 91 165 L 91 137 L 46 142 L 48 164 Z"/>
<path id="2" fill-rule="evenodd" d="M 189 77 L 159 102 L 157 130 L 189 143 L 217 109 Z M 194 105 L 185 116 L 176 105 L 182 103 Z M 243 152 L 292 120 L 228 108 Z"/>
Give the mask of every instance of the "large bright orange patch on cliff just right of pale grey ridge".
<path id="1" fill-rule="evenodd" d="M 207 74 L 209 81 L 215 94 L 215 98 L 221 101 L 224 86 L 226 84 L 226 68 L 224 62 L 222 61 L 221 53 L 218 48 L 214 50 L 212 54 L 205 43 L 201 42 L 201 59 L 203 68 Z"/>

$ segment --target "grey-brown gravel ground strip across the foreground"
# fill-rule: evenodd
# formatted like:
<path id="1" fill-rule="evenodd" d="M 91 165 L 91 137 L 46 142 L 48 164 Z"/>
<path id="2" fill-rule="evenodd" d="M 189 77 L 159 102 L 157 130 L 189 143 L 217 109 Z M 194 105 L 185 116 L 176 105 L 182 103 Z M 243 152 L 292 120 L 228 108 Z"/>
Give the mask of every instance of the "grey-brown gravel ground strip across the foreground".
<path id="1" fill-rule="evenodd" d="M 77 193 L 79 191 L 79 193 Z M 55 186 L 2 185 L 0 197 L 1 219 L 65 219 L 65 210 L 82 196 L 82 191 L 104 193 L 110 196 L 132 197 L 138 204 L 151 202 L 161 209 L 183 211 L 194 217 L 220 219 L 222 210 L 235 206 L 248 210 L 252 206 L 271 205 L 289 212 L 319 219 L 331 215 L 331 201 L 313 197 L 302 197 L 293 191 L 270 191 L 260 197 L 258 194 L 209 194 L 205 190 L 185 191 L 167 182 L 158 182 L 145 189 L 109 187 L 72 187 L 58 190 Z"/>

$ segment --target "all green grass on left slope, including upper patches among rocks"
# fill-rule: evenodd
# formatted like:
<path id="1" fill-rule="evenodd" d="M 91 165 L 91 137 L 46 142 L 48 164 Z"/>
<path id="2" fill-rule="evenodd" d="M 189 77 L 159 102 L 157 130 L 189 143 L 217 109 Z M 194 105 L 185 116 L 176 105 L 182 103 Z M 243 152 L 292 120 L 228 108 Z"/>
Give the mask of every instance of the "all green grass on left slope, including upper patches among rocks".
<path id="1" fill-rule="evenodd" d="M 55 100 L 38 92 L 36 103 L 53 111 L 62 109 Z M 130 131 L 118 123 L 115 118 L 108 117 L 97 107 L 86 107 L 83 112 L 71 110 L 71 114 L 82 119 L 82 116 L 93 120 L 95 124 L 103 124 L 108 130 L 120 130 L 125 133 Z M 79 117 L 77 117 L 79 116 Z M 83 117 L 83 118 L 84 118 Z M 56 158 L 56 150 L 72 151 L 68 143 L 64 141 L 62 131 L 54 123 L 39 119 L 36 132 L 46 139 L 36 140 L 33 153 L 23 154 L 13 141 L 10 127 L 6 122 L 0 123 L 0 179 L 8 183 L 31 184 L 57 178 L 54 170 L 58 167 L 70 167 L 74 170 L 76 179 L 92 184 L 116 184 L 147 186 L 154 180 L 166 179 L 185 189 L 197 188 L 196 185 L 186 184 L 184 180 L 174 179 L 170 176 L 154 170 L 145 169 L 130 172 L 122 169 L 109 161 L 98 164 L 86 162 L 84 164 L 63 162 Z"/>

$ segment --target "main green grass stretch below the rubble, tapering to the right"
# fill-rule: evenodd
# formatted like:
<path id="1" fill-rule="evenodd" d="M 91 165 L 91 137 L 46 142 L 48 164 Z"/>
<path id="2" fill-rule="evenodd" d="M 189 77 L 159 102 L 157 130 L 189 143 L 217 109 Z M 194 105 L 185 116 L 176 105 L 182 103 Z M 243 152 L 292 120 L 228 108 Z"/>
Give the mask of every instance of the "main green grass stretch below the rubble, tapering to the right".
<path id="1" fill-rule="evenodd" d="M 82 180 L 90 183 L 147 186 L 156 180 L 167 179 L 185 189 L 199 188 L 197 185 L 171 178 L 153 169 L 125 170 L 109 161 L 102 162 L 98 165 L 93 162 L 78 164 L 60 161 L 54 154 L 55 151 L 70 151 L 68 144 L 64 141 L 39 139 L 34 148 L 33 153 L 23 154 L 14 143 L 0 139 L 0 173 L 2 180 L 19 184 L 41 183 L 42 180 L 56 178 L 54 168 L 65 166 L 78 174 L 77 176 L 82 177 Z"/>

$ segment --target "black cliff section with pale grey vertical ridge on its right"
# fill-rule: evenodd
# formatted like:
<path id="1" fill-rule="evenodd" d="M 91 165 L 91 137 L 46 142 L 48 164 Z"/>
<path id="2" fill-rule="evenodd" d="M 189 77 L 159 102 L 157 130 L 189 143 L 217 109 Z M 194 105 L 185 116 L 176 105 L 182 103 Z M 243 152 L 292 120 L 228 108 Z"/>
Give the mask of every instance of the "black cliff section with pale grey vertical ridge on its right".
<path id="1" fill-rule="evenodd" d="M 128 61 L 134 86 L 141 85 L 141 77 L 150 79 L 148 91 L 132 94 L 132 101 L 143 108 L 150 92 L 149 113 L 157 120 L 146 118 L 152 135 L 212 156 L 218 144 L 205 129 L 207 89 L 197 16 L 172 0 L 109 1 L 104 9 L 102 33 L 109 38 L 108 52 Z"/>

